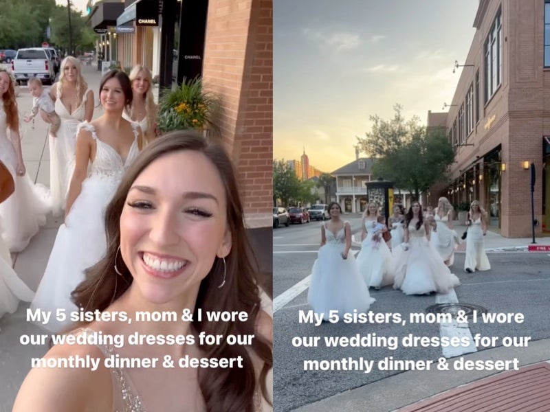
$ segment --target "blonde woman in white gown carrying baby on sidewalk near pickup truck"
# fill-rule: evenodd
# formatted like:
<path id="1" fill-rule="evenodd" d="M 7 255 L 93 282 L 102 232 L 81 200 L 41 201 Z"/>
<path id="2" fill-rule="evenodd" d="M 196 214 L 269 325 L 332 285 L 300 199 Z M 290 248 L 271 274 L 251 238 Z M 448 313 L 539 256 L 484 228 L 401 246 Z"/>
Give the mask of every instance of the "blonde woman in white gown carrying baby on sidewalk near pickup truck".
<path id="1" fill-rule="evenodd" d="M 50 136 L 50 190 L 52 213 L 61 216 L 67 204 L 69 183 L 74 172 L 76 127 L 91 122 L 94 115 L 94 91 L 82 76 L 80 62 L 67 56 L 61 62 L 59 81 L 50 89 L 61 125 L 56 137 Z M 49 119 L 41 113 L 45 122 Z"/>

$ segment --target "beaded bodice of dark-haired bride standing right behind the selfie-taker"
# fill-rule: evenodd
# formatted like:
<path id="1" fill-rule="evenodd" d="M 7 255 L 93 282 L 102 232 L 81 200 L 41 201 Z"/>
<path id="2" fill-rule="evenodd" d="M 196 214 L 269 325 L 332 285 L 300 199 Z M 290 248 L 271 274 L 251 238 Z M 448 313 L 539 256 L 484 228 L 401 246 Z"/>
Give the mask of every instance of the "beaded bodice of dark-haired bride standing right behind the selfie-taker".
<path id="1" fill-rule="evenodd" d="M 107 176 L 107 177 L 122 177 L 124 171 L 129 167 L 133 159 L 137 156 L 139 149 L 137 148 L 137 125 L 132 124 L 134 140 L 128 152 L 126 159 L 122 159 L 118 152 L 112 146 L 98 139 L 96 129 L 88 122 L 83 122 L 78 125 L 77 134 L 80 129 L 88 130 L 91 136 L 96 141 L 96 158 L 91 165 L 91 176 Z"/>

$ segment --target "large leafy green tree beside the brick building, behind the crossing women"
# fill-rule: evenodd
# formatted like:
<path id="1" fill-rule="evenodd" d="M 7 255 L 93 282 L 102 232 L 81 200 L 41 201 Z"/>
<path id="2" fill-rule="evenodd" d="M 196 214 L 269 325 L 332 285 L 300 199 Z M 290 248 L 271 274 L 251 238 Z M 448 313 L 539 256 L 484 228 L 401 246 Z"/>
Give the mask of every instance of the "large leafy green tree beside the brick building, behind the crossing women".
<path id="1" fill-rule="evenodd" d="M 429 190 L 445 176 L 454 150 L 443 130 L 428 130 L 419 124 L 417 116 L 406 121 L 398 104 L 394 111 L 389 121 L 371 116 L 371 132 L 358 137 L 357 146 L 375 157 L 371 174 L 394 181 L 397 187 L 418 198 L 420 192 Z"/>

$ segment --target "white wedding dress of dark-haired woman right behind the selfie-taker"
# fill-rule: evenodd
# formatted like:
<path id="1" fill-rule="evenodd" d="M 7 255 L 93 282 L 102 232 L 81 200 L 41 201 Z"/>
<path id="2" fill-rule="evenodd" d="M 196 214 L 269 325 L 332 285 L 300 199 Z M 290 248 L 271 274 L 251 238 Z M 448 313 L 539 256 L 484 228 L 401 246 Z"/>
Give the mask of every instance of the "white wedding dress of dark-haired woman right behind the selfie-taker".
<path id="1" fill-rule="evenodd" d="M 84 122 L 78 130 L 80 128 L 89 130 L 96 140 L 96 159 L 91 164 L 90 176 L 83 182 L 82 190 L 65 218 L 65 224 L 59 227 L 50 260 L 31 304 L 32 309 L 54 314 L 58 308 L 63 308 L 67 317 L 69 312 L 77 310 L 71 301 L 72 291 L 85 279 L 85 269 L 96 264 L 107 249 L 104 211 L 122 174 L 139 151 L 137 126 L 133 126 L 135 138 L 126 159 L 98 139 L 94 126 Z M 58 332 L 69 323 L 54 321 L 46 328 Z"/>

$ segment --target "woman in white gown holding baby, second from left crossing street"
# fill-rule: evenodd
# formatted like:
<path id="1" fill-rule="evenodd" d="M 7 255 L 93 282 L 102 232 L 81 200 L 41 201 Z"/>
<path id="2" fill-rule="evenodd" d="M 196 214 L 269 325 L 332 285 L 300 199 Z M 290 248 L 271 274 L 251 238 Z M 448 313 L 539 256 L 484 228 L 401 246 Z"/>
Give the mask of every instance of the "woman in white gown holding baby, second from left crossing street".
<path id="1" fill-rule="evenodd" d="M 388 231 L 384 220 L 378 222 L 380 211 L 374 202 L 366 207 L 361 222 L 361 251 L 357 257 L 359 270 L 363 275 L 366 286 L 380 289 L 382 286 L 393 284 L 391 271 L 391 251 L 382 238 L 382 233 Z"/>

